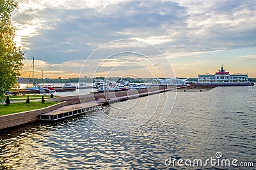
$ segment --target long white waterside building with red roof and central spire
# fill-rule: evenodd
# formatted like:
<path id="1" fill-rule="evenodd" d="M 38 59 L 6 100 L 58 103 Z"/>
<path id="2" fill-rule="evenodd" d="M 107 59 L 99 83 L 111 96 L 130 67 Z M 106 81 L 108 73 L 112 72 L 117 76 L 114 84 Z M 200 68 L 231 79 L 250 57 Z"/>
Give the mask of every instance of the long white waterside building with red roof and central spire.
<path id="1" fill-rule="evenodd" d="M 198 75 L 198 85 L 223 85 L 223 86 L 239 86 L 239 85 L 251 85 L 248 82 L 247 74 L 229 74 L 225 71 L 223 65 L 219 72 L 213 74 Z"/>

